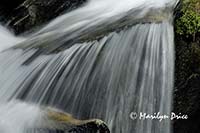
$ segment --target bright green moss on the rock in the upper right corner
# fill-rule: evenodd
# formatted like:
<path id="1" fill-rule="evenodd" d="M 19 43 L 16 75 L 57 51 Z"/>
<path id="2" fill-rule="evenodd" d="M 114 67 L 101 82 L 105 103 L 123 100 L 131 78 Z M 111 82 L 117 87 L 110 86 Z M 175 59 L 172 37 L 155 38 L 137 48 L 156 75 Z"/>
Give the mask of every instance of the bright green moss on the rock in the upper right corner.
<path id="1" fill-rule="evenodd" d="M 181 17 L 175 21 L 176 33 L 196 40 L 200 32 L 200 0 L 182 0 Z"/>

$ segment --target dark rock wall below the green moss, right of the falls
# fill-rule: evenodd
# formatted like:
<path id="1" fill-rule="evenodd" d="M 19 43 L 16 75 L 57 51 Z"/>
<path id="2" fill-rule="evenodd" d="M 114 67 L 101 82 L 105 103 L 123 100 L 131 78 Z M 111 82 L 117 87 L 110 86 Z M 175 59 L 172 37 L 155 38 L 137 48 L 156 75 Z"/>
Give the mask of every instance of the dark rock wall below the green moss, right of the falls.
<path id="1" fill-rule="evenodd" d="M 188 120 L 174 122 L 174 133 L 198 133 L 200 128 L 200 44 L 176 36 L 174 112 Z"/>

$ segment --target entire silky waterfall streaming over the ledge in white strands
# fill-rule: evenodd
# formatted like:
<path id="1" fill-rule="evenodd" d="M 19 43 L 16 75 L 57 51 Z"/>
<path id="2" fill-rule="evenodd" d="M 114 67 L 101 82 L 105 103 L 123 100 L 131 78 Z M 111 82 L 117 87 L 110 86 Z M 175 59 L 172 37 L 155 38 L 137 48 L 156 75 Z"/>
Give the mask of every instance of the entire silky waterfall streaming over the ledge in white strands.
<path id="1" fill-rule="evenodd" d="M 170 114 L 175 4 L 91 0 L 23 39 L 1 28 L 0 132 L 54 127 L 40 108 L 50 106 L 112 133 L 170 133 L 169 119 L 130 114 Z"/>

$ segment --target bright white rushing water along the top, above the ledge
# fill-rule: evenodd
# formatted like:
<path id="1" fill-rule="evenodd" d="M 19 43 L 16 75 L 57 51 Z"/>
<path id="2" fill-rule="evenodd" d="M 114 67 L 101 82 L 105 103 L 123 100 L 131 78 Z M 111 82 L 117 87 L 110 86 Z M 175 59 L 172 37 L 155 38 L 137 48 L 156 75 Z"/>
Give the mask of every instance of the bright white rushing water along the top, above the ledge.
<path id="1" fill-rule="evenodd" d="M 173 8 L 177 2 L 178 0 L 121 0 L 117 2 L 115 0 L 90 0 L 86 6 L 53 20 L 39 33 L 63 34 L 85 27 L 88 29 L 94 25 L 117 21 L 129 11 L 134 14 L 133 19 L 139 19 L 143 18 L 151 8 L 165 8 L 166 6 Z M 137 12 L 138 9 L 139 12 Z"/>

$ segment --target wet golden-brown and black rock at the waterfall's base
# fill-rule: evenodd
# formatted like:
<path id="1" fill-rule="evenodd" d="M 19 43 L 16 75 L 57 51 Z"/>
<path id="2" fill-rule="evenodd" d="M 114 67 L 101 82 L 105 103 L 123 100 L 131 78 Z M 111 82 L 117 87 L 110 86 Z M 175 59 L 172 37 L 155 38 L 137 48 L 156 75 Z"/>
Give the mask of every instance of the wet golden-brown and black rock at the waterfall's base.
<path id="1" fill-rule="evenodd" d="M 78 120 L 71 114 L 54 108 L 44 108 L 43 111 L 47 112 L 48 119 L 55 122 L 55 125 L 60 125 L 58 128 L 56 127 L 60 131 L 68 131 L 68 133 L 110 133 L 106 123 L 99 119 Z"/>

